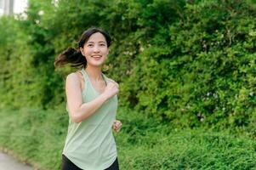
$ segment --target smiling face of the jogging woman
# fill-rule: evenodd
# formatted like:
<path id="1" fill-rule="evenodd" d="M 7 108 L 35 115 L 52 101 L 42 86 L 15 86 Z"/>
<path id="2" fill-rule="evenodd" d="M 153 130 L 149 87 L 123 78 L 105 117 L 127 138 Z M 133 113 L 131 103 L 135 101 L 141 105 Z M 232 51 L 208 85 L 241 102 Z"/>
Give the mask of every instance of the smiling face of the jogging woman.
<path id="1" fill-rule="evenodd" d="M 109 48 L 105 41 L 105 37 L 96 32 L 88 38 L 88 42 L 80 48 L 83 56 L 85 56 L 88 65 L 100 66 L 105 62 L 107 54 L 109 54 Z"/>

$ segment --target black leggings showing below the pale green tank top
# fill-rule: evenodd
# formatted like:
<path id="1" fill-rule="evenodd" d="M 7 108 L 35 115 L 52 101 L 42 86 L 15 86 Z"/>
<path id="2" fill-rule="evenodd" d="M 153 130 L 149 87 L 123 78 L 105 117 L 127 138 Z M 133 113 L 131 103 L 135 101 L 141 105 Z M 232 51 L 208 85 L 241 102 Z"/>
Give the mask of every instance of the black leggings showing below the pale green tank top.
<path id="1" fill-rule="evenodd" d="M 72 161 L 70 161 L 66 156 L 62 155 L 62 165 L 61 170 L 82 170 L 77 167 Z M 105 170 L 119 170 L 118 160 L 116 159 L 112 163 L 111 167 L 106 168 Z"/>

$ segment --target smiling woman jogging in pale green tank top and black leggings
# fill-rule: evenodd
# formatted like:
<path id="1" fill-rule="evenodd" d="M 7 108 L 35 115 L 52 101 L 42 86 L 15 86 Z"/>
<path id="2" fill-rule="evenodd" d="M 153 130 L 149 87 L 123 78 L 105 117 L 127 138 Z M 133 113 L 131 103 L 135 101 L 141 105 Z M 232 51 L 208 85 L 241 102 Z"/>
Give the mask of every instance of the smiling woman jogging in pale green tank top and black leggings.
<path id="1" fill-rule="evenodd" d="M 67 48 L 54 65 L 80 66 L 65 82 L 70 121 L 62 154 L 62 170 L 116 170 L 117 146 L 112 128 L 122 126 L 117 113 L 117 82 L 101 72 L 111 37 L 103 30 L 90 28 L 82 33 L 78 48 Z"/>

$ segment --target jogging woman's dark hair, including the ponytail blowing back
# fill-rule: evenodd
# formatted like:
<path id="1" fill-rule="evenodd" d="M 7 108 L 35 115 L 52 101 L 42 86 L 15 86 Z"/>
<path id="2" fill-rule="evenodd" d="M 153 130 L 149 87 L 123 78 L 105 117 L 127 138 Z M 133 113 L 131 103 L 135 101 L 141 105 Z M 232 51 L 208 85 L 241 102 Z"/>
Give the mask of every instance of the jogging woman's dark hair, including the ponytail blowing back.
<path id="1" fill-rule="evenodd" d="M 83 31 L 82 36 L 77 42 L 77 49 L 67 48 L 55 59 L 55 67 L 59 67 L 65 64 L 71 64 L 72 67 L 81 66 L 85 68 L 87 65 L 87 61 L 82 55 L 80 48 L 83 48 L 84 44 L 88 42 L 89 37 L 91 37 L 96 32 L 100 32 L 105 37 L 107 48 L 109 48 L 111 46 L 111 37 L 109 36 L 109 34 L 106 31 L 101 30 L 100 28 L 89 28 L 88 30 Z"/>

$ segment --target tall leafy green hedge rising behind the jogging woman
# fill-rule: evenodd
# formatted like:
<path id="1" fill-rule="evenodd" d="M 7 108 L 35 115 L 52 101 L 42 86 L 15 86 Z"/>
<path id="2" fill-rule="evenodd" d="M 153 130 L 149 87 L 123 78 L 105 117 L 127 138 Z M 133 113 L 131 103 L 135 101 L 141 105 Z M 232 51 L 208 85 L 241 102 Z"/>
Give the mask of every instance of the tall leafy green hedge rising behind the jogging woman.
<path id="1" fill-rule="evenodd" d="M 63 104 L 71 69 L 55 71 L 54 58 L 100 26 L 114 39 L 104 71 L 120 83 L 122 106 L 176 127 L 255 121 L 253 1 L 53 2 L 0 19 L 1 108 Z"/>

